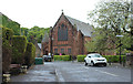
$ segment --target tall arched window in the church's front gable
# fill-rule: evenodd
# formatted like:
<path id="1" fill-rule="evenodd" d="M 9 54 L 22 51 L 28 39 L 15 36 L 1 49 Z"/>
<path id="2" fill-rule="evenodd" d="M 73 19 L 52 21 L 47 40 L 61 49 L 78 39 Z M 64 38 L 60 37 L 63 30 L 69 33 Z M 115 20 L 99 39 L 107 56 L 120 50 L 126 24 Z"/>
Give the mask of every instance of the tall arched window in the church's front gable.
<path id="1" fill-rule="evenodd" d="M 63 23 L 58 30 L 58 41 L 68 41 L 68 28 Z"/>

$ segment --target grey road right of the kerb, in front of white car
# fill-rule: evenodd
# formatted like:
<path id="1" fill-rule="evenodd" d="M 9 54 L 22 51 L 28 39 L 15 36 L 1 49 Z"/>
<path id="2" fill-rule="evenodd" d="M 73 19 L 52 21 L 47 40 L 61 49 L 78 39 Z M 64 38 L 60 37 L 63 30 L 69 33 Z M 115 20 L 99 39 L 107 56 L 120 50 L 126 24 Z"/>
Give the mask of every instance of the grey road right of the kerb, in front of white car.
<path id="1" fill-rule="evenodd" d="M 83 63 L 54 62 L 61 82 L 131 82 L 131 70 L 115 66 L 84 66 Z"/>

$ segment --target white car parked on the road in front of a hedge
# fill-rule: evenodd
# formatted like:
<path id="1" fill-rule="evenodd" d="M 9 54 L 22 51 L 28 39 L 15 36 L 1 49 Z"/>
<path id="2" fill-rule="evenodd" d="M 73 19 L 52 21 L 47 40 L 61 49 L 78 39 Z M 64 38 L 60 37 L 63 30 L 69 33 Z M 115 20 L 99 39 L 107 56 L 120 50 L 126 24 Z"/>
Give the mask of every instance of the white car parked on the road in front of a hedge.
<path id="1" fill-rule="evenodd" d="M 92 54 L 88 54 L 86 57 L 84 57 L 84 62 L 85 65 L 98 65 L 98 64 L 102 64 L 104 66 L 106 66 L 106 59 L 103 57 L 102 55 L 100 55 L 99 53 L 92 53 Z"/>

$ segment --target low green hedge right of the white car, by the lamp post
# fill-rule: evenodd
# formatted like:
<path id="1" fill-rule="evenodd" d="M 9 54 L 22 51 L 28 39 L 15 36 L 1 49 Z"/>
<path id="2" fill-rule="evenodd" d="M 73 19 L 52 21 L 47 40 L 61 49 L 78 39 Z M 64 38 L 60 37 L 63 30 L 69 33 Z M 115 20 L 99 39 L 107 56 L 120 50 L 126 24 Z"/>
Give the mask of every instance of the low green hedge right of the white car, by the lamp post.
<path id="1" fill-rule="evenodd" d="M 108 62 L 113 62 L 113 63 L 117 63 L 117 62 L 120 62 L 120 55 L 103 55 L 106 60 L 108 60 Z M 121 55 L 121 61 L 124 61 L 125 62 L 125 60 L 123 60 L 123 56 L 125 57 L 125 55 Z"/>

